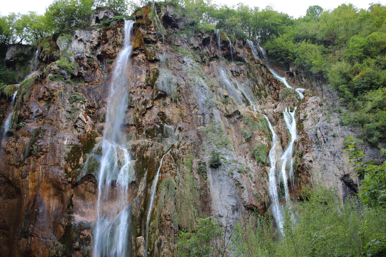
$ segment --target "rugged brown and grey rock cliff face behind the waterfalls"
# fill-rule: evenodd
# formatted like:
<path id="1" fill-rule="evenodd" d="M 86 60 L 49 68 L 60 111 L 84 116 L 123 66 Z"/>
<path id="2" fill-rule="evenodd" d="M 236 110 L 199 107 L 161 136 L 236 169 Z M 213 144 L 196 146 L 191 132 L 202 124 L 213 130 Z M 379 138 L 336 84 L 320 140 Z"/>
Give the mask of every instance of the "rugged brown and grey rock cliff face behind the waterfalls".
<path id="1" fill-rule="evenodd" d="M 316 82 L 279 70 L 291 85 L 306 88 L 300 100 L 243 39 L 223 33 L 218 39 L 215 30 L 183 33 L 172 6 L 157 7 L 157 13 L 150 7 L 135 13 L 129 106 L 122 117 L 134 174 L 133 256 L 143 256 L 151 185 L 168 149 L 151 212 L 148 256 L 175 256 L 178 231 L 195 227 L 197 217 L 235 223 L 250 210 L 269 212 L 271 134 L 262 114 L 284 149 L 290 136 L 283 111 L 298 107 L 294 199 L 317 180 L 335 186 L 343 198 L 357 190 L 342 153 L 344 137 L 352 132 L 328 115 L 331 96 L 321 97 Z M 111 18 L 103 10 L 92 16 L 94 24 Z M 47 38 L 37 48 L 39 71 L 15 86 L 12 128 L 2 137 L 0 153 L 5 256 L 92 255 L 107 81 L 122 27 L 115 20 Z M 9 101 L 0 103 L 7 110 Z M 261 145 L 265 150 L 256 152 Z M 220 154 L 218 168 L 209 165 L 212 150 Z"/>

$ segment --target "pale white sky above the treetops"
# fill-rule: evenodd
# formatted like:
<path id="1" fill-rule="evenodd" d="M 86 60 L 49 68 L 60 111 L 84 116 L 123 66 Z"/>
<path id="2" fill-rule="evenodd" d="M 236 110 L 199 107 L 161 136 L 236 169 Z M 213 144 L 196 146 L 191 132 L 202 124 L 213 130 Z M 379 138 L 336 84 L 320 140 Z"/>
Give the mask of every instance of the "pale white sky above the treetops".
<path id="1" fill-rule="evenodd" d="M 267 0 L 259 1 L 256 0 L 213 0 L 218 5 L 234 5 L 242 2 L 249 6 L 257 6 L 264 8 L 266 5 L 272 5 L 275 10 L 284 12 L 294 18 L 303 16 L 306 13 L 308 6 L 320 5 L 323 9 L 333 9 L 338 7 L 341 3 L 352 3 L 359 8 L 367 9 L 370 2 L 378 2 L 377 0 Z M 7 15 L 9 12 L 20 12 L 22 14 L 28 11 L 37 11 L 39 14 L 44 14 L 46 7 L 52 3 L 53 0 L 4 0 L 1 4 L 1 15 Z M 386 3 L 385 0 L 379 1 L 383 5 Z"/>

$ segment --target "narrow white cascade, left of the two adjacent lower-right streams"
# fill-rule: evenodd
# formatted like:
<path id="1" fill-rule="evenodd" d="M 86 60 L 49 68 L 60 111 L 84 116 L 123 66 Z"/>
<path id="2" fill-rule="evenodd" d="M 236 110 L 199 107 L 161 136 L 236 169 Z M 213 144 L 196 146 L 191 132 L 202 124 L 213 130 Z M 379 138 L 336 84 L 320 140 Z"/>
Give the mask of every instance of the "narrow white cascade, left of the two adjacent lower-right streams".
<path id="1" fill-rule="evenodd" d="M 278 137 L 275 134 L 275 131 L 273 130 L 271 122 L 269 122 L 269 119 L 266 115 L 264 115 L 264 118 L 266 118 L 269 130 L 272 134 L 272 145 L 271 149 L 269 150 L 269 195 L 271 196 L 271 211 L 273 213 L 273 216 L 276 221 L 276 225 L 278 226 L 279 230 L 283 230 L 283 215 L 281 215 L 281 210 L 279 207 L 279 196 L 278 196 L 278 183 L 276 179 L 276 146 L 278 145 Z"/>

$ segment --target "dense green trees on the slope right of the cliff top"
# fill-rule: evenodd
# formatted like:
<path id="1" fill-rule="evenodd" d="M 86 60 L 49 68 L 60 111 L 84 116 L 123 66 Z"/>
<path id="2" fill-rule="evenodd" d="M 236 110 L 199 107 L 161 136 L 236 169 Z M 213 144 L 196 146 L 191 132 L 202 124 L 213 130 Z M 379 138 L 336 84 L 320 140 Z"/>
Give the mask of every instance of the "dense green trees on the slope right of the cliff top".
<path id="1" fill-rule="evenodd" d="M 342 125 L 359 127 L 373 144 L 386 140 L 386 108 L 376 105 L 386 102 L 385 20 L 380 3 L 368 10 L 342 4 L 324 12 L 314 5 L 264 44 L 272 59 L 328 81 L 349 109 Z"/>

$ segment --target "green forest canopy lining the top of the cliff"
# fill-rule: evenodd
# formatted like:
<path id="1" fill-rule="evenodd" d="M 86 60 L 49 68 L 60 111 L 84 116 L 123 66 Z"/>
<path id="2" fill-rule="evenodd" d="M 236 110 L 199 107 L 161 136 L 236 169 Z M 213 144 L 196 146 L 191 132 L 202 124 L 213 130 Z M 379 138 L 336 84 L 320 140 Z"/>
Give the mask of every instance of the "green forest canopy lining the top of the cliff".
<path id="1" fill-rule="evenodd" d="M 36 12 L 0 16 L 2 59 L 9 44 L 34 45 L 39 38 L 66 34 L 90 25 L 90 14 L 109 7 L 130 19 L 129 12 L 147 4 L 127 0 L 56 0 L 44 15 Z M 150 3 L 150 2 L 149 2 Z M 272 7 L 259 9 L 242 3 L 228 7 L 204 0 L 158 2 L 173 4 L 183 13 L 186 33 L 197 29 L 221 29 L 228 35 L 249 38 L 263 46 L 269 57 L 284 66 L 295 65 L 311 79 L 329 83 L 347 112 L 341 125 L 360 127 L 373 144 L 386 139 L 386 6 L 373 3 L 367 9 L 342 4 L 334 10 L 310 6 L 303 17 L 293 19 Z M 182 9 L 182 8 L 183 9 Z M 0 83 L 16 83 L 1 60 Z"/>

